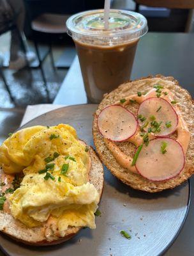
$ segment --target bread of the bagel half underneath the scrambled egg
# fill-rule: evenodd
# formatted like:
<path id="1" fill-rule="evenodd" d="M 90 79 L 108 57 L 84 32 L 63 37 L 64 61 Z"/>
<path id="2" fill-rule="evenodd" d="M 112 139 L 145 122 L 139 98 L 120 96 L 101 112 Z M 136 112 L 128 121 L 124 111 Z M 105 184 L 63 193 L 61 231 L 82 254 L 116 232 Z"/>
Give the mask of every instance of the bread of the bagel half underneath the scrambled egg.
<path id="1" fill-rule="evenodd" d="M 91 157 L 89 182 L 94 185 L 101 198 L 103 192 L 103 166 L 91 147 L 89 147 L 89 154 Z M 68 230 L 66 230 L 64 237 L 59 237 L 57 240 L 54 239 L 53 241 L 47 241 L 42 231 L 42 227 L 26 227 L 26 225 L 21 223 L 19 220 L 15 220 L 11 214 L 0 211 L 0 231 L 17 241 L 33 246 L 46 246 L 63 243 L 75 236 L 81 229 L 82 227 L 69 227 Z"/>

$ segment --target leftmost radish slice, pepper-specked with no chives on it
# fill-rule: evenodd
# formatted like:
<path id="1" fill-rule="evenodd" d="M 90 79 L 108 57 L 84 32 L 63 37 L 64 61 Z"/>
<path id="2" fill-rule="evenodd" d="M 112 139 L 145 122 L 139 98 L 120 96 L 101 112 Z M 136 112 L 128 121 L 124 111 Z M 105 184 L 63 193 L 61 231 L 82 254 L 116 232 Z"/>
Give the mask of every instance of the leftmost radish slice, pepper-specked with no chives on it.
<path id="1" fill-rule="evenodd" d="M 133 113 L 120 105 L 108 106 L 98 116 L 98 130 L 108 140 L 127 140 L 135 134 L 137 126 Z"/>

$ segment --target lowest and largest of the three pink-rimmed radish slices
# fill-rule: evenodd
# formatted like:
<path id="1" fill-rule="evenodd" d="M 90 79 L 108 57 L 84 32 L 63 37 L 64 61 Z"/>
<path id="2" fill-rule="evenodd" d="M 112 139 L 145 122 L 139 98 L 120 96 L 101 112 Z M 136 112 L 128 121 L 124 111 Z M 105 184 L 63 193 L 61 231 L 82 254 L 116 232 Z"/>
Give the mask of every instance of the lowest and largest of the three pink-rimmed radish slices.
<path id="1" fill-rule="evenodd" d="M 166 147 L 163 147 L 163 146 Z M 166 152 L 162 153 L 163 150 Z M 144 178 L 153 181 L 172 179 L 184 168 L 184 152 L 181 144 L 172 138 L 155 138 L 144 145 L 135 167 Z"/>

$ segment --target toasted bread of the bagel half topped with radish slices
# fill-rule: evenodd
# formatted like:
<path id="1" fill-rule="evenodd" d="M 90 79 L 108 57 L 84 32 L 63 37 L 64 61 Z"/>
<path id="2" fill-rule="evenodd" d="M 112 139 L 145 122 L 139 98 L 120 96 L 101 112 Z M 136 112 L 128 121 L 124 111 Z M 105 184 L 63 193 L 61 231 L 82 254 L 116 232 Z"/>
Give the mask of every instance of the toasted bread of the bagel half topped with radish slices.
<path id="1" fill-rule="evenodd" d="M 184 121 L 188 125 L 188 129 L 190 130 L 191 138 L 188 146 L 188 150 L 186 152 L 186 162 L 184 165 L 183 171 L 174 177 L 173 179 L 153 182 L 151 180 L 145 179 L 139 174 L 132 173 L 129 170 L 123 168 L 119 163 L 117 163 L 116 159 L 112 155 L 112 153 L 108 150 L 105 142 L 103 141 L 103 136 L 101 136 L 98 131 L 97 126 L 97 118 L 100 114 L 100 111 L 110 104 L 114 104 L 115 102 L 123 99 L 127 96 L 137 94 L 140 92 L 147 92 L 153 88 L 153 84 L 162 83 L 165 88 L 168 88 L 175 95 L 175 99 L 177 99 L 176 106 L 180 109 Z M 135 103 L 133 105 L 126 106 L 133 113 L 137 113 L 138 104 Z M 187 90 L 183 89 L 179 86 L 178 81 L 174 79 L 174 77 L 164 77 L 161 75 L 144 77 L 142 79 L 137 79 L 135 81 L 129 81 L 124 84 L 121 84 L 116 90 L 104 95 L 103 100 L 101 101 L 96 113 L 94 114 L 93 120 L 93 138 L 94 144 L 96 146 L 96 150 L 100 156 L 101 161 L 107 168 L 115 175 L 119 180 L 121 180 L 124 184 L 131 186 L 134 189 L 147 191 L 147 192 L 158 192 L 163 189 L 173 189 L 176 186 L 182 184 L 185 180 L 189 179 L 194 172 L 193 167 L 193 149 L 194 149 L 194 106 L 193 100 L 191 99 L 190 93 Z M 175 135 L 170 137 L 174 138 Z M 135 145 L 128 141 L 117 143 L 117 146 L 128 156 L 133 157 L 135 152 Z"/>

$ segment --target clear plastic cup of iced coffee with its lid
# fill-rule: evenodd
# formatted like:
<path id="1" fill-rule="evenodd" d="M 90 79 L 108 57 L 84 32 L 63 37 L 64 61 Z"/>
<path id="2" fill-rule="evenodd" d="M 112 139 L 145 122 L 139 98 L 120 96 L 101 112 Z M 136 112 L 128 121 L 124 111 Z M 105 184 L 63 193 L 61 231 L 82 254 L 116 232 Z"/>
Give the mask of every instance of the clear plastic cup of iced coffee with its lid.
<path id="1" fill-rule="evenodd" d="M 135 12 L 110 10 L 108 29 L 103 10 L 77 13 L 66 26 L 78 53 L 89 102 L 130 79 L 137 43 L 147 33 L 146 18 Z"/>

